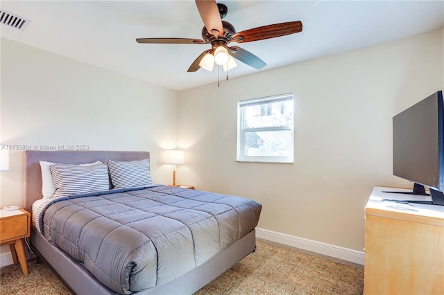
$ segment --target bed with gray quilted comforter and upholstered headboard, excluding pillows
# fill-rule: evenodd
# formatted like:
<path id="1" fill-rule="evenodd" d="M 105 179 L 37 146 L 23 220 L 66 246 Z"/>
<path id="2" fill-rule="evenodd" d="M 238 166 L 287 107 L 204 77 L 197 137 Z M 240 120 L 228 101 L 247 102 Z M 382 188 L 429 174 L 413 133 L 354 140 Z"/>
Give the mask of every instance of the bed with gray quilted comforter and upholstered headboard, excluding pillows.
<path id="1" fill-rule="evenodd" d="M 149 152 L 26 151 L 24 207 L 26 211 L 32 212 L 33 204 L 42 199 L 40 161 L 83 164 L 96 161 L 133 163 L 132 161 L 139 162 L 146 159 L 149 160 Z M 56 166 L 51 166 L 51 169 L 59 167 Z M 101 165 L 99 166 L 101 167 Z M 60 164 L 60 167 L 63 165 Z M 110 167 L 112 166 L 108 166 L 108 168 Z M 53 175 L 56 175 L 56 172 L 51 171 Z M 110 175 L 111 179 L 107 180 L 112 186 L 113 174 L 111 170 Z M 114 177 L 114 179 L 116 178 Z M 210 200 L 212 202 L 209 202 Z M 137 206 L 133 206 L 133 204 L 137 204 Z M 148 204 L 155 205 L 148 206 Z M 188 205 L 191 207 L 185 208 Z M 222 208 L 217 206 L 222 206 Z M 255 250 L 255 226 L 262 208 L 260 204 L 241 197 L 155 185 L 141 188 L 114 188 L 114 190 L 101 193 L 71 194 L 60 197 L 57 202 L 51 201 L 50 204 L 42 207 L 46 211 L 42 210 L 44 213 L 39 213 L 41 215 L 35 217 L 35 212 L 33 212 L 34 218 L 37 219 L 35 224 L 31 226 L 32 249 L 35 250 L 37 256 L 45 260 L 56 271 L 65 285 L 76 294 L 192 294 Z M 110 212 L 109 208 L 112 208 L 112 214 L 110 213 L 112 221 L 106 219 L 108 213 L 96 216 L 99 211 Z M 122 208 L 125 210 L 130 208 L 128 210 L 131 211 L 126 213 L 126 211 L 122 211 Z M 138 217 L 137 214 L 143 217 Z M 67 220 L 58 219 L 63 218 L 63 215 L 67 216 Z M 191 215 L 196 220 L 191 221 Z M 228 219 L 228 215 L 237 215 L 237 219 Z M 88 236 L 87 234 L 89 234 L 94 239 L 97 237 L 99 242 L 90 242 L 88 247 L 78 249 L 77 247 L 81 246 L 78 244 L 82 244 L 76 240 L 80 230 L 76 227 L 69 227 L 70 224 L 78 226 L 78 222 L 69 222 L 74 218 L 73 216 L 76 216 L 78 220 L 90 218 L 80 226 L 82 235 Z M 120 220 L 129 220 L 129 225 L 110 225 L 110 222 L 115 223 L 116 216 L 119 216 L 119 222 Z M 142 223 L 145 222 L 144 218 L 151 222 L 148 222 L 149 226 Z M 102 224 L 100 220 L 105 220 L 105 222 Z M 51 224 L 55 224 L 53 229 L 49 228 Z M 89 224 L 94 224 L 94 226 L 87 227 Z M 157 226 L 160 227 L 159 224 L 171 224 L 172 227 L 168 229 L 168 233 L 158 233 Z M 213 229 L 210 227 L 212 224 L 221 228 Z M 122 228 L 129 229 L 122 231 Z M 133 238 L 128 233 L 130 231 L 137 231 L 138 237 L 140 233 L 145 232 L 154 235 L 148 236 L 147 234 L 148 238 L 145 236 Z M 65 232 L 67 232 L 66 235 Z M 179 238 L 182 240 L 178 240 Z M 133 240 L 137 239 L 142 239 L 139 242 L 140 245 L 133 245 Z M 89 238 L 83 238 L 83 244 L 85 244 L 85 240 L 89 241 Z M 106 240 L 113 242 L 120 240 L 121 242 L 114 249 L 105 244 Z M 71 255 L 76 259 L 62 251 L 60 247 L 55 246 L 58 241 L 60 241 L 58 246 L 67 248 L 65 251 L 71 252 Z M 105 250 L 95 249 L 96 244 L 100 244 L 100 247 L 103 244 Z M 122 244 L 125 244 L 125 247 L 133 247 L 124 251 L 124 253 L 129 253 L 128 257 L 125 256 L 126 260 L 121 259 L 123 256 L 120 253 L 123 252 L 119 252 L 123 247 Z M 212 244 L 219 249 L 216 251 L 214 248 L 210 248 Z M 90 247 L 93 249 L 89 249 Z M 135 252 L 136 249 L 137 251 L 142 250 Z M 151 253 L 151 249 L 154 249 L 155 254 Z M 183 253 L 176 253 L 176 250 L 183 251 Z M 96 256 L 92 258 L 93 255 L 89 251 L 96 253 Z M 102 251 L 101 254 L 99 251 Z M 106 254 L 106 259 L 100 259 L 103 253 Z M 150 258 L 150 255 L 154 256 Z M 194 257 L 191 257 L 193 255 Z M 142 256 L 143 258 L 140 258 Z M 79 257 L 88 259 L 78 262 Z M 111 257 L 113 258 L 110 259 Z M 110 266 L 99 265 L 99 260 L 103 260 L 105 264 L 108 263 Z M 117 260 L 124 261 L 117 262 Z M 112 269 L 110 271 L 119 274 L 123 283 L 120 281 L 114 283 L 114 280 L 108 282 L 106 276 L 110 275 L 101 274 L 103 271 L 108 271 L 107 267 L 112 268 L 114 265 L 117 265 L 117 268 L 123 265 L 123 270 L 114 271 Z M 149 272 L 149 269 L 152 268 L 155 270 Z"/>

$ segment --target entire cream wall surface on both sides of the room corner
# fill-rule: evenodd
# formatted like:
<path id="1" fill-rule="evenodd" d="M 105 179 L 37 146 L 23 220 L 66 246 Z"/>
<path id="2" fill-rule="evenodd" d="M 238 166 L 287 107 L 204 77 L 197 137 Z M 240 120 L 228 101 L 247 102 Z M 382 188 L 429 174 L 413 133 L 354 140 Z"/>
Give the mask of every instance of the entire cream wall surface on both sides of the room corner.
<path id="1" fill-rule="evenodd" d="M 364 206 L 392 176 L 391 118 L 444 87 L 443 30 L 186 91 L 1 39 L 1 144 L 187 149 L 178 182 L 264 205 L 259 226 L 362 251 Z M 295 96 L 295 163 L 237 163 L 237 101 Z M 178 99 L 179 98 L 179 99 Z M 176 116 L 178 114 L 178 117 Z M 23 152 L 0 173 L 0 207 L 22 204 Z"/>

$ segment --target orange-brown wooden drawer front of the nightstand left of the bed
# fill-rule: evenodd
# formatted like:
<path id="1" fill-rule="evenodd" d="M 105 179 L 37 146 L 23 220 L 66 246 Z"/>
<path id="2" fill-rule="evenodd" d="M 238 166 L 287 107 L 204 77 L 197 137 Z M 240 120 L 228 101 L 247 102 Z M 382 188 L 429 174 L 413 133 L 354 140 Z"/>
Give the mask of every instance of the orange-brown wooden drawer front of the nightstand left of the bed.
<path id="1" fill-rule="evenodd" d="M 8 242 L 28 235 L 28 215 L 20 214 L 0 220 L 0 242 Z"/>

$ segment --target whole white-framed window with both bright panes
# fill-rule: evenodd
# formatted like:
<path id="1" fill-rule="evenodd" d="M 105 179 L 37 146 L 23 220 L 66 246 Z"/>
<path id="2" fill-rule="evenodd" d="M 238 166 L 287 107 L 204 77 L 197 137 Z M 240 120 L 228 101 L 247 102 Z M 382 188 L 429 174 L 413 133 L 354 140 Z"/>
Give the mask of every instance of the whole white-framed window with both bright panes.
<path id="1" fill-rule="evenodd" d="M 293 163 L 293 94 L 241 100 L 237 161 Z"/>

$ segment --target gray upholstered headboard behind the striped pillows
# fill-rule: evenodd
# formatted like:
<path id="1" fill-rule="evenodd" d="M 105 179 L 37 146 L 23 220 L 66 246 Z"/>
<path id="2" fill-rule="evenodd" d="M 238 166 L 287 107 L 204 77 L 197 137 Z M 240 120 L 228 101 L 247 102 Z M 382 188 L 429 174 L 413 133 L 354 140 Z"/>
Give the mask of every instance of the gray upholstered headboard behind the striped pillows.
<path id="1" fill-rule="evenodd" d="M 42 170 L 39 161 L 81 164 L 94 161 L 135 161 L 149 158 L 149 152 L 28 150 L 25 152 L 24 159 L 24 208 L 31 212 L 33 202 L 42 199 Z"/>

